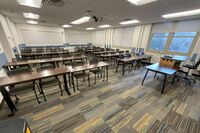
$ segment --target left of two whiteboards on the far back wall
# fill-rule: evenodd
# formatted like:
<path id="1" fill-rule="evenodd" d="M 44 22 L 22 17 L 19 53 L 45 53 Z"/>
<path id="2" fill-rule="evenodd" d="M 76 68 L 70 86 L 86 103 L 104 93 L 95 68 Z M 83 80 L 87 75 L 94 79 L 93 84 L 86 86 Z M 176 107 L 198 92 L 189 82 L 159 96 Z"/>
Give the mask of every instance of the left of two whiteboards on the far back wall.
<path id="1" fill-rule="evenodd" d="M 25 44 L 41 45 L 41 44 L 63 44 L 63 33 L 56 31 L 42 30 L 21 30 L 22 38 Z"/>

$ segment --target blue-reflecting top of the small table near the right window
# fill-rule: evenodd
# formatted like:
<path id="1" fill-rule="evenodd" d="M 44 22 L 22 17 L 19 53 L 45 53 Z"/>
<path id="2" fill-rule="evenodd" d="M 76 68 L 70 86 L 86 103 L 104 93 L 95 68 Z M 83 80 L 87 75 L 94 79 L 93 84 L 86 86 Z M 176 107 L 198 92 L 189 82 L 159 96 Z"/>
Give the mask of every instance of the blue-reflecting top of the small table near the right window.
<path id="1" fill-rule="evenodd" d="M 177 69 L 174 69 L 174 68 L 168 68 L 168 67 L 160 66 L 159 63 L 149 65 L 149 66 L 146 67 L 146 69 L 156 71 L 156 72 L 160 72 L 160 73 L 164 73 L 164 74 L 168 74 L 168 75 L 175 74 L 176 71 L 177 71 Z"/>

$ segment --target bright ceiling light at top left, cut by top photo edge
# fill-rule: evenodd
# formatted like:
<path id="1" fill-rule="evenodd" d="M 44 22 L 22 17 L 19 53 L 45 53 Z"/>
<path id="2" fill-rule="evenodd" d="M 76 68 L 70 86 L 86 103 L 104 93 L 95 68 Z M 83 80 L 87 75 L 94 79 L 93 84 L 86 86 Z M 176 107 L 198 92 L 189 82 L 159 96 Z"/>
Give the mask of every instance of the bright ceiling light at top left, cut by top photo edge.
<path id="1" fill-rule="evenodd" d="M 41 8 L 42 0 L 17 0 L 20 5 Z"/>

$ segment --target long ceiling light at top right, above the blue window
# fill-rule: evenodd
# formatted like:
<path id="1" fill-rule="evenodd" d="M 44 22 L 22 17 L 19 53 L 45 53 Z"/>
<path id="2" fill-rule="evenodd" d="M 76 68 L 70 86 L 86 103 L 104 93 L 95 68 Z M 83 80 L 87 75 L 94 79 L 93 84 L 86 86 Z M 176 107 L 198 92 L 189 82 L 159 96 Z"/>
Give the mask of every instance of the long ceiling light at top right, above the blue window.
<path id="1" fill-rule="evenodd" d="M 185 16 L 192 16 L 192 15 L 199 15 L 199 14 L 200 14 L 200 9 L 196 9 L 196 10 L 165 14 L 165 15 L 162 15 L 162 17 L 163 18 L 177 18 L 177 17 L 185 17 Z"/>

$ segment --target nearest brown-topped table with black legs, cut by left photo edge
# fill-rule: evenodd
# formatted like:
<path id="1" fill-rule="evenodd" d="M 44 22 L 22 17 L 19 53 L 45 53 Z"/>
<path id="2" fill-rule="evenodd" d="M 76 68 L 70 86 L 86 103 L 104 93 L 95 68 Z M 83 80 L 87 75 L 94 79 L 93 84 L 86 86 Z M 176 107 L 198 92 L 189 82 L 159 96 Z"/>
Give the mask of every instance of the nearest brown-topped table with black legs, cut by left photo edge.
<path id="1" fill-rule="evenodd" d="M 22 74 L 17 74 L 17 75 L 11 75 L 8 77 L 0 77 L 0 91 L 6 103 L 8 104 L 8 107 L 10 108 L 12 114 L 14 114 L 15 111 L 17 111 L 17 109 L 14 103 L 12 102 L 9 96 L 9 93 L 5 89 L 6 86 L 40 80 L 42 78 L 47 78 L 47 77 L 52 77 L 52 76 L 57 76 L 57 75 L 63 75 L 65 90 L 68 95 L 71 95 L 70 91 L 68 90 L 67 78 L 66 78 L 66 74 L 69 74 L 69 73 L 70 73 L 70 69 L 66 67 L 59 67 L 59 68 L 54 68 L 54 69 L 42 70 L 40 72 L 22 73 Z"/>

